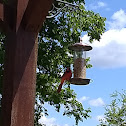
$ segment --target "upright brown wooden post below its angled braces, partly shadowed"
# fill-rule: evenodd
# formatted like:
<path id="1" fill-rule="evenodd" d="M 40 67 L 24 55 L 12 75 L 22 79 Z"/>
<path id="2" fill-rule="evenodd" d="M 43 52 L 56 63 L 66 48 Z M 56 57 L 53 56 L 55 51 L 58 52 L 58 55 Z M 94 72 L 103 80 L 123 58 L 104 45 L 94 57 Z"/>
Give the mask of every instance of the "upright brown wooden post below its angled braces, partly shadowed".
<path id="1" fill-rule="evenodd" d="M 2 126 L 33 126 L 37 41 L 22 27 L 6 40 Z"/>

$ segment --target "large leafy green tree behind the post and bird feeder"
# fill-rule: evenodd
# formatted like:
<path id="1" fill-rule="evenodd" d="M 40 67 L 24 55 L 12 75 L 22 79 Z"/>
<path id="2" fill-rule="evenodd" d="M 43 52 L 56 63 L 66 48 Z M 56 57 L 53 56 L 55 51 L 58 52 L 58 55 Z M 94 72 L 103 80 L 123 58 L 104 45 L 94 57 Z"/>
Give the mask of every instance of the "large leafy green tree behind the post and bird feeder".
<path id="1" fill-rule="evenodd" d="M 57 93 L 60 74 L 73 63 L 69 57 L 68 46 L 78 41 L 81 33 L 87 33 L 90 42 L 100 40 L 105 30 L 105 18 L 93 11 L 86 11 L 83 0 L 67 0 L 79 8 L 64 8 L 59 15 L 46 19 L 38 35 L 38 61 L 35 105 L 35 126 L 41 126 L 38 120 L 42 113 L 48 115 L 44 103 L 54 106 L 57 112 L 64 106 L 63 115 L 73 116 L 76 124 L 89 117 L 90 109 L 84 109 L 77 101 L 76 93 L 66 83 L 61 93 Z M 63 6 L 55 1 L 56 6 Z M 5 36 L 0 34 L 0 92 L 2 89 Z M 1 58 L 2 57 L 2 58 Z M 90 67 L 90 65 L 88 66 Z"/>

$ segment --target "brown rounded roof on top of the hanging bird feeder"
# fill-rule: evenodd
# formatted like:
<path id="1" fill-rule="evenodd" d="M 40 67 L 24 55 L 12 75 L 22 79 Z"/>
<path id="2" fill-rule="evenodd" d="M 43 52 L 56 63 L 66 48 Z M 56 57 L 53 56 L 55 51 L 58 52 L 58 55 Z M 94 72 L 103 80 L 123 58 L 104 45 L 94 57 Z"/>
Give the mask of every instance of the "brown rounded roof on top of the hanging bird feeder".
<path id="1" fill-rule="evenodd" d="M 92 50 L 92 47 L 88 44 L 83 44 L 83 43 L 75 43 L 71 46 L 68 47 L 70 50 L 74 51 L 89 51 Z"/>

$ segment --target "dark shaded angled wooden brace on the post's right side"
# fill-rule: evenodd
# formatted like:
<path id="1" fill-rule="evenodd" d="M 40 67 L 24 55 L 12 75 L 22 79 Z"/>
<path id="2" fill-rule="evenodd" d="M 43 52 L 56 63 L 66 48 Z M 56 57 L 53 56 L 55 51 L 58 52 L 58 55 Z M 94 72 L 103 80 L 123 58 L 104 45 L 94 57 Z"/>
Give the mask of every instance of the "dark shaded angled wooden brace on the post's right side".
<path id="1" fill-rule="evenodd" d="M 52 6 L 53 0 L 29 0 L 22 25 L 26 31 L 38 32 Z"/>

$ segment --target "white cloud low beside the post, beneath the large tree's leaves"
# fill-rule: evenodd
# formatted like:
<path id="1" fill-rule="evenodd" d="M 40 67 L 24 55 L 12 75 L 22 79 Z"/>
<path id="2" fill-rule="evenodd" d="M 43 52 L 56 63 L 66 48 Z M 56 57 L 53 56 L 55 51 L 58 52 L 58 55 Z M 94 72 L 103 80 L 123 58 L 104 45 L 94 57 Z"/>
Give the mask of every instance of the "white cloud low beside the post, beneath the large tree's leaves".
<path id="1" fill-rule="evenodd" d="M 41 117 L 41 119 L 39 120 L 39 122 L 41 124 L 46 124 L 46 126 L 59 126 L 56 124 L 56 118 L 52 117 L 52 118 L 46 118 L 45 115 Z"/>

